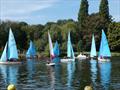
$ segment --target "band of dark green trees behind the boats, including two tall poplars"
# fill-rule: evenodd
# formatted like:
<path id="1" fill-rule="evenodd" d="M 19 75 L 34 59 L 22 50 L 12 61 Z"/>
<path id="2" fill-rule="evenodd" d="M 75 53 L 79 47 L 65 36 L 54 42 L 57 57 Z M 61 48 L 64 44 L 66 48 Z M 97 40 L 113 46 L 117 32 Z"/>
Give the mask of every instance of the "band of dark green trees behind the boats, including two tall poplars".
<path id="1" fill-rule="evenodd" d="M 109 15 L 108 0 L 101 0 L 99 12 L 88 14 L 89 2 L 81 0 L 78 21 L 72 19 L 48 22 L 45 25 L 29 25 L 26 22 L 0 21 L 0 51 L 8 38 L 11 27 L 15 35 L 18 49 L 22 52 L 28 48 L 29 40 L 33 40 L 39 53 L 48 55 L 48 30 L 53 43 L 58 40 L 61 52 L 67 49 L 67 34 L 71 31 L 74 51 L 90 51 L 92 34 L 95 35 L 97 50 L 99 49 L 101 30 L 108 37 L 110 49 L 120 51 L 120 22 L 114 22 Z"/>

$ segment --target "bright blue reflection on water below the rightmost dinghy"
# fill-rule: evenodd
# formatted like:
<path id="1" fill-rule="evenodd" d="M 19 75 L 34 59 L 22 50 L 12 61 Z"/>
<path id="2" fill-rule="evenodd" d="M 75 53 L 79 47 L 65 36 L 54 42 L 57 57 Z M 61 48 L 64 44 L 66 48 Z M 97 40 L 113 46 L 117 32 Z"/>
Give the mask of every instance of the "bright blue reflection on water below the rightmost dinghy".
<path id="1" fill-rule="evenodd" d="M 104 90 L 108 90 L 110 84 L 111 62 L 99 63 L 99 67 L 101 85 L 103 86 Z"/>

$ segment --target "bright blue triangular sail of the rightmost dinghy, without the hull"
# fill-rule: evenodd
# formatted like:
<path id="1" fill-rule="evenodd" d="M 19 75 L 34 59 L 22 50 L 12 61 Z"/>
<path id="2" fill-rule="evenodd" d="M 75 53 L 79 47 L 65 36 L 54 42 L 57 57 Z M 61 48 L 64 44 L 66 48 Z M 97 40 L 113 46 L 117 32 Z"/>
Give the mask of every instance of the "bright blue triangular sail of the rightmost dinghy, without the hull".
<path id="1" fill-rule="evenodd" d="M 102 30 L 102 38 L 100 43 L 99 57 L 111 57 L 110 48 L 108 41 L 105 35 L 105 32 Z"/>

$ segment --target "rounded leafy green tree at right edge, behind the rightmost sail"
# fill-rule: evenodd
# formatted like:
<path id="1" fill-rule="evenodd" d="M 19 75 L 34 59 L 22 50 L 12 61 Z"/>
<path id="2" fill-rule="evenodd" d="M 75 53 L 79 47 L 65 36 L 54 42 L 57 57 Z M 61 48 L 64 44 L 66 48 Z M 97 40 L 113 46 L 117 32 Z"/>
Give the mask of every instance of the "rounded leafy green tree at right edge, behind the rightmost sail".
<path id="1" fill-rule="evenodd" d="M 107 34 L 111 50 L 120 51 L 120 22 L 111 23 Z"/>

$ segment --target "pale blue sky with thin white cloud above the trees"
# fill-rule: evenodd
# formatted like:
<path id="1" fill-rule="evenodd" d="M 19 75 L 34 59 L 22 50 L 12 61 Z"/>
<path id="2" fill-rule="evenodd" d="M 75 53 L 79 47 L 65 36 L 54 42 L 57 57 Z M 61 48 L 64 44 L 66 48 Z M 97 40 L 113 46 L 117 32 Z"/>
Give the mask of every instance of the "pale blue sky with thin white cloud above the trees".
<path id="1" fill-rule="evenodd" d="M 109 13 L 120 22 L 120 0 L 108 0 Z M 59 19 L 77 21 L 81 0 L 0 0 L 0 19 L 46 24 Z M 99 11 L 100 0 L 88 0 L 89 14 Z"/>

